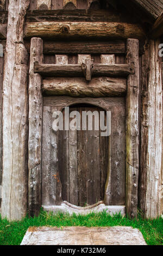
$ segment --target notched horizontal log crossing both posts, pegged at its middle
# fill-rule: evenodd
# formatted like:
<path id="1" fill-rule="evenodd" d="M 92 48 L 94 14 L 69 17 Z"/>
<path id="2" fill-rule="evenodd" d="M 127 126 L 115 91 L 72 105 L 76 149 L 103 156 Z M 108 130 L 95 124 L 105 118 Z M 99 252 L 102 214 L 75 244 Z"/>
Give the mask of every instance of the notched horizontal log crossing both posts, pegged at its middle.
<path id="1" fill-rule="evenodd" d="M 34 64 L 34 72 L 42 76 L 83 77 L 82 65 Z M 126 77 L 134 74 L 134 64 L 93 64 L 92 76 Z"/>

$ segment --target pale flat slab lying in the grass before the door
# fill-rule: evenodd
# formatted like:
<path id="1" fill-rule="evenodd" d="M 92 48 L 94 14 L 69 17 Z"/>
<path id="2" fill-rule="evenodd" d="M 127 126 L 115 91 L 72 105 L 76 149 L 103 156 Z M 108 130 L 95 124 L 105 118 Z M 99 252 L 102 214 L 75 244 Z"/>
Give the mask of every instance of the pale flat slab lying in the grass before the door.
<path id="1" fill-rule="evenodd" d="M 140 230 L 132 227 L 29 227 L 21 245 L 146 245 L 146 242 Z M 99 252 L 96 248 L 93 251 Z M 76 251 L 59 247 L 58 252 L 75 254 Z M 105 248 L 101 247 L 101 252 L 105 253 Z"/>

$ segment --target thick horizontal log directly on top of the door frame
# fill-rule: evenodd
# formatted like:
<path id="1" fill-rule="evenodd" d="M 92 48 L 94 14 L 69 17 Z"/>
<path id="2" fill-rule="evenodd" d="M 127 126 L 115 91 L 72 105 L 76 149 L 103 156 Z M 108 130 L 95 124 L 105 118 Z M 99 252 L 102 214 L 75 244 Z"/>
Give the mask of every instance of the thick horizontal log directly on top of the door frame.
<path id="1" fill-rule="evenodd" d="M 96 77 L 89 83 L 83 77 L 52 77 L 42 81 L 42 92 L 48 96 L 123 96 L 126 90 L 126 78 Z"/>

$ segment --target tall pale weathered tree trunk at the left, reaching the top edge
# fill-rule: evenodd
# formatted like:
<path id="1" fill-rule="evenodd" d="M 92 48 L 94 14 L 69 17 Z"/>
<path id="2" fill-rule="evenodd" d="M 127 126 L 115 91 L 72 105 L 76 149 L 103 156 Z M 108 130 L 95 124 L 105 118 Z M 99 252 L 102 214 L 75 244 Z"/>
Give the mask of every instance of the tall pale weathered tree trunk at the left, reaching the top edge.
<path id="1" fill-rule="evenodd" d="M 3 81 L 2 217 L 21 220 L 28 202 L 28 53 L 23 45 L 29 0 L 10 1 Z"/>

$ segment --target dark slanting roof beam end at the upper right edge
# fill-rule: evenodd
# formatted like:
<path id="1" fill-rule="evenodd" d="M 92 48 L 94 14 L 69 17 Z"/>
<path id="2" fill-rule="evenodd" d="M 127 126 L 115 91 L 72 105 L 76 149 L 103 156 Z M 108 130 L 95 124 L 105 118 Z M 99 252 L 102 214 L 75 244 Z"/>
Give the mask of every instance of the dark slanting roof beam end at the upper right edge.
<path id="1" fill-rule="evenodd" d="M 155 21 L 152 31 L 149 34 L 151 38 L 156 39 L 163 35 L 163 13 L 161 16 Z"/>

